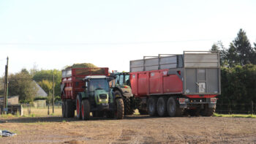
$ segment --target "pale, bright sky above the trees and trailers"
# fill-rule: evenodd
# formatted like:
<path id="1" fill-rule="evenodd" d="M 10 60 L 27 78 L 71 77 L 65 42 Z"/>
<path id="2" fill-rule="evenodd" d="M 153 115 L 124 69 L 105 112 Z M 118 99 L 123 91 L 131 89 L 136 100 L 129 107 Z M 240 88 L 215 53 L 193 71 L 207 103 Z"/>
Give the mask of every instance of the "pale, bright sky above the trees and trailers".
<path id="1" fill-rule="evenodd" d="M 143 56 L 256 42 L 254 0 L 0 0 L 0 76 L 75 63 L 129 72 Z"/>

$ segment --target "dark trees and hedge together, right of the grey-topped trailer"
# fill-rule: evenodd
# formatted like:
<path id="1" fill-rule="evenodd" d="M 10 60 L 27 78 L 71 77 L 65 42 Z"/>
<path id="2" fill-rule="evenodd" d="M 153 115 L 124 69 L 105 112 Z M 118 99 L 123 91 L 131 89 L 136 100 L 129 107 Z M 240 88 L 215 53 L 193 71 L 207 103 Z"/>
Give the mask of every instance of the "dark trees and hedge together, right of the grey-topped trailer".
<path id="1" fill-rule="evenodd" d="M 240 29 L 229 48 L 217 42 L 211 50 L 220 53 L 222 94 L 218 96 L 217 111 L 249 113 L 252 102 L 256 105 L 256 43 L 251 45 Z"/>

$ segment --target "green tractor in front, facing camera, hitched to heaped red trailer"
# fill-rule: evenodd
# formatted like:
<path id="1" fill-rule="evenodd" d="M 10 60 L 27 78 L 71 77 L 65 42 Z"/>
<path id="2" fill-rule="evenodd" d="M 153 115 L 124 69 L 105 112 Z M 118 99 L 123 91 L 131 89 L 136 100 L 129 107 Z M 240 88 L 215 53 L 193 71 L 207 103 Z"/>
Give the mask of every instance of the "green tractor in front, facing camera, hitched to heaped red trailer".
<path id="1" fill-rule="evenodd" d="M 90 113 L 94 117 L 124 118 L 124 102 L 120 95 L 115 95 L 109 86 L 113 77 L 104 75 L 86 76 L 85 89 L 76 97 L 77 117 L 88 120 Z"/>

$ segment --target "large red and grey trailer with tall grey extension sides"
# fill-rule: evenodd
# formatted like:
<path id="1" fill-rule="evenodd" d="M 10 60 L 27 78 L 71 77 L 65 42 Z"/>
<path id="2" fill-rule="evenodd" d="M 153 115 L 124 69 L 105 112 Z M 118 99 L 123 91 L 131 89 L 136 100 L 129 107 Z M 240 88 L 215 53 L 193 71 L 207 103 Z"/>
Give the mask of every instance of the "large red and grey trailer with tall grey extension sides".
<path id="1" fill-rule="evenodd" d="M 130 61 L 132 94 L 149 115 L 210 116 L 220 94 L 218 52 L 184 51 Z"/>

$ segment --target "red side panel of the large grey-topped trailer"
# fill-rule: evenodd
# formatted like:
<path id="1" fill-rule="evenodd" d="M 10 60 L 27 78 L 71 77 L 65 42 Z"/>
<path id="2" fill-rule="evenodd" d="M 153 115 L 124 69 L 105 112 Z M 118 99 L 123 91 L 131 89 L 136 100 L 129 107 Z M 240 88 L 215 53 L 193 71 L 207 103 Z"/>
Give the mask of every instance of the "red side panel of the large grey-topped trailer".
<path id="1" fill-rule="evenodd" d="M 183 83 L 178 75 L 167 75 L 168 69 L 131 72 L 130 81 L 134 96 L 150 94 L 181 94 Z"/>

